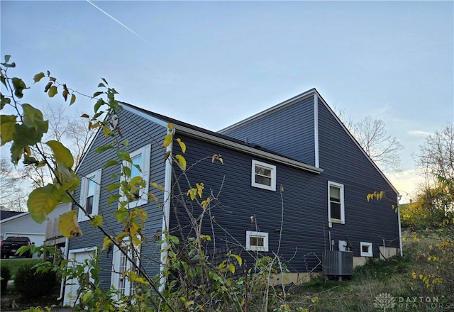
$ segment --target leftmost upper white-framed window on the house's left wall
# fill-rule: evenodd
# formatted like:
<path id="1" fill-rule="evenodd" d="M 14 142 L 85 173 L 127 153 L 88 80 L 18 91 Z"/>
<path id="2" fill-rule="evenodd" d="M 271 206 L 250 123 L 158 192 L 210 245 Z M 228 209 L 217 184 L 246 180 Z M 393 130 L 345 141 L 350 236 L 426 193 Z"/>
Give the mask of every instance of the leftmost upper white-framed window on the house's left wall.
<path id="1" fill-rule="evenodd" d="M 98 169 L 91 174 L 82 177 L 80 184 L 80 201 L 79 203 L 89 213 L 90 216 L 96 216 L 99 213 L 99 194 L 101 194 L 101 173 L 102 169 Z M 82 222 L 88 220 L 82 209 L 79 208 L 77 221 Z"/>

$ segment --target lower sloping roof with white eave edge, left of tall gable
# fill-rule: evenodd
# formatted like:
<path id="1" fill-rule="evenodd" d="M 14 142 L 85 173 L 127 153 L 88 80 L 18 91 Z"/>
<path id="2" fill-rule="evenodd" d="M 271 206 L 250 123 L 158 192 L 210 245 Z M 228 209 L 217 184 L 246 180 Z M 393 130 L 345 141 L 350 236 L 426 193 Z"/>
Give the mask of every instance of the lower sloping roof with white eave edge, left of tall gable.
<path id="1" fill-rule="evenodd" d="M 160 123 L 162 126 L 167 126 L 167 123 L 172 123 L 175 126 L 175 129 L 179 132 L 185 133 L 194 138 L 199 138 L 201 140 L 206 140 L 211 143 L 217 143 L 218 145 L 223 145 L 225 147 L 231 148 L 233 150 L 240 150 L 242 152 L 248 153 L 250 155 L 257 155 L 264 157 L 268 160 L 274 160 L 275 162 L 280 162 L 284 165 L 289 165 L 292 167 L 297 167 L 299 169 L 304 169 L 309 172 L 321 173 L 323 169 L 308 165 L 299 160 L 294 160 L 285 155 L 279 154 L 272 150 L 267 150 L 260 145 L 254 143 L 247 143 L 243 140 L 238 140 L 236 138 L 231 138 L 228 135 L 223 135 L 211 130 L 206 130 L 198 126 L 191 125 L 190 123 L 185 123 L 184 121 L 178 121 L 177 119 L 170 118 L 159 113 L 154 113 L 152 111 L 147 111 L 144 108 L 134 106 L 125 102 L 120 102 L 120 104 L 127 111 L 132 111 L 133 113 L 138 113 L 138 115 L 145 118 L 151 119 L 152 121 Z M 159 122 L 161 121 L 161 122 Z"/>

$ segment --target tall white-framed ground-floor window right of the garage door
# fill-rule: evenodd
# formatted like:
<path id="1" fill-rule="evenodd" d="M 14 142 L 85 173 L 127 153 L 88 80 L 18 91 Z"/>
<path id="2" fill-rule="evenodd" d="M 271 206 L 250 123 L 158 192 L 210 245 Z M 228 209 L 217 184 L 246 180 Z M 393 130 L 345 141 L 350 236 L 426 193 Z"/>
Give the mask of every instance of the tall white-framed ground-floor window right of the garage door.
<path id="1" fill-rule="evenodd" d="M 121 248 L 123 250 L 128 250 L 126 252 L 128 257 L 139 265 L 140 250 L 131 250 L 131 240 L 129 240 L 129 238 L 125 238 L 121 242 Z M 128 260 L 128 257 L 126 257 L 126 255 L 117 246 L 114 246 L 111 286 L 125 296 L 130 296 L 134 291 L 134 284 L 131 283 L 131 280 L 128 278 L 128 272 L 133 271 L 134 266 L 133 263 Z"/>

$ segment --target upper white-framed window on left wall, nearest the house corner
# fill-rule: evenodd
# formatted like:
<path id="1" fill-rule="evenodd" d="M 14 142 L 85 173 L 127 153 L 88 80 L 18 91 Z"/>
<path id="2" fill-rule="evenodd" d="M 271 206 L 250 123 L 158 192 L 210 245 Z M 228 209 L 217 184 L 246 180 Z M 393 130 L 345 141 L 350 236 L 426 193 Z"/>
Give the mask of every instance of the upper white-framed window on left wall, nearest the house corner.
<path id="1" fill-rule="evenodd" d="M 151 155 L 151 145 L 146 145 L 139 150 L 131 152 L 129 156 L 131 157 L 131 162 L 124 162 L 123 166 L 128 167 L 131 170 L 131 177 L 142 177 L 145 181 L 145 188 L 138 189 L 135 192 L 135 201 L 129 203 L 129 207 L 138 207 L 148 203 L 148 184 L 150 181 L 150 155 Z M 124 175 L 121 174 L 121 180 L 125 179 Z M 120 194 L 123 192 L 120 190 Z M 121 199 L 121 201 L 126 201 L 126 196 Z"/>

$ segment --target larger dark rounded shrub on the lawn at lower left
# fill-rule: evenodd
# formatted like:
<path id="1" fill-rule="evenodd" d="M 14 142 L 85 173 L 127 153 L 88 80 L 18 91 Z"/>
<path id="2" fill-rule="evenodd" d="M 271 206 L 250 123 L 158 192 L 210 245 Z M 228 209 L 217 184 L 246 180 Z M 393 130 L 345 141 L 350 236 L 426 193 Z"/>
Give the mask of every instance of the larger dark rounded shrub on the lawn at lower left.
<path id="1" fill-rule="evenodd" d="M 14 286 L 22 296 L 38 297 L 50 293 L 57 284 L 57 274 L 50 269 L 26 263 L 18 267 Z"/>

